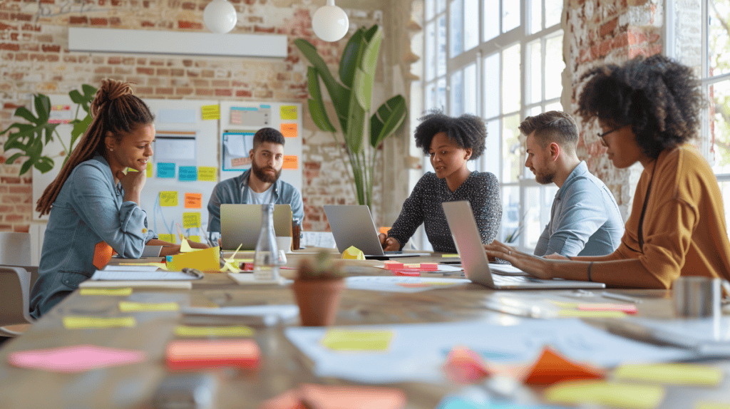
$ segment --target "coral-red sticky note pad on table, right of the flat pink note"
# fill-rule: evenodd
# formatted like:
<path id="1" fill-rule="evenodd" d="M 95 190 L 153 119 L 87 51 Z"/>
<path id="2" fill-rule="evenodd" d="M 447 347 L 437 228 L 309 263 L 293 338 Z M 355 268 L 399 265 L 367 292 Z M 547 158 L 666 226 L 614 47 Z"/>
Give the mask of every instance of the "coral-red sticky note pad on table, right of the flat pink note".
<path id="1" fill-rule="evenodd" d="M 254 340 L 173 340 L 165 348 L 171 370 L 216 367 L 258 367 L 261 350 Z"/>

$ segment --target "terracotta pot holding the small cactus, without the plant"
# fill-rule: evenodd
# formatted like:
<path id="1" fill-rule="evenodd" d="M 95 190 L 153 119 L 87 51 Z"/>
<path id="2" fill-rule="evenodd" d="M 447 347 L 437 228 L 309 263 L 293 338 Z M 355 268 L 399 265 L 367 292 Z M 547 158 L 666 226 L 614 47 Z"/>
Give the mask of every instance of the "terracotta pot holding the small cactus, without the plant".
<path id="1" fill-rule="evenodd" d="M 299 305 L 301 324 L 307 327 L 331 325 L 337 316 L 339 296 L 345 288 L 345 280 L 294 280 L 291 285 Z"/>

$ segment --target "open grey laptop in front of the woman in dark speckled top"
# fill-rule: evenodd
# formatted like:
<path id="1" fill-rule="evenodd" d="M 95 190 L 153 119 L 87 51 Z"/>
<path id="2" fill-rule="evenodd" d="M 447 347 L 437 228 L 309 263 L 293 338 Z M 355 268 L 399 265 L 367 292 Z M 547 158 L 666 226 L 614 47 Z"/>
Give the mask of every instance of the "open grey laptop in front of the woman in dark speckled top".
<path id="1" fill-rule="evenodd" d="M 365 258 L 387 260 L 393 257 L 430 256 L 431 253 L 383 252 L 370 209 L 365 205 L 325 205 L 324 212 L 332 228 L 337 251 L 356 246 Z"/>

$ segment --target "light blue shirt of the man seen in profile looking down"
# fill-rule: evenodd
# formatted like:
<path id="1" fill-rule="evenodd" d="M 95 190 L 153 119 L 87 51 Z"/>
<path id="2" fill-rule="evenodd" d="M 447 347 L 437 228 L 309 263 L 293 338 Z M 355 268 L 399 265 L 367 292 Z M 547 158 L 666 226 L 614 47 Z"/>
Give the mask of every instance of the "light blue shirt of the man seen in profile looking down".
<path id="1" fill-rule="evenodd" d="M 602 256 L 621 244 L 623 220 L 608 187 L 579 163 L 553 200 L 550 222 L 534 254 Z"/>

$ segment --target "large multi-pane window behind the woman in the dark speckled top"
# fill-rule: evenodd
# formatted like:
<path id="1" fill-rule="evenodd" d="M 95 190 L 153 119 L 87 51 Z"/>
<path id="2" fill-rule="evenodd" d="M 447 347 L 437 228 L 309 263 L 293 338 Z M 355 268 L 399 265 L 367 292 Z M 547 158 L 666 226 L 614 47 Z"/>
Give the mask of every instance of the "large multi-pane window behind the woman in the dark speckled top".
<path id="1" fill-rule="evenodd" d="M 425 0 L 423 106 L 483 117 L 487 149 L 469 166 L 500 182 L 497 238 L 534 249 L 557 191 L 524 166 L 518 125 L 527 116 L 563 109 L 562 0 Z M 432 171 L 426 157 L 423 169 Z M 423 236 L 423 248 L 429 248 Z"/>

